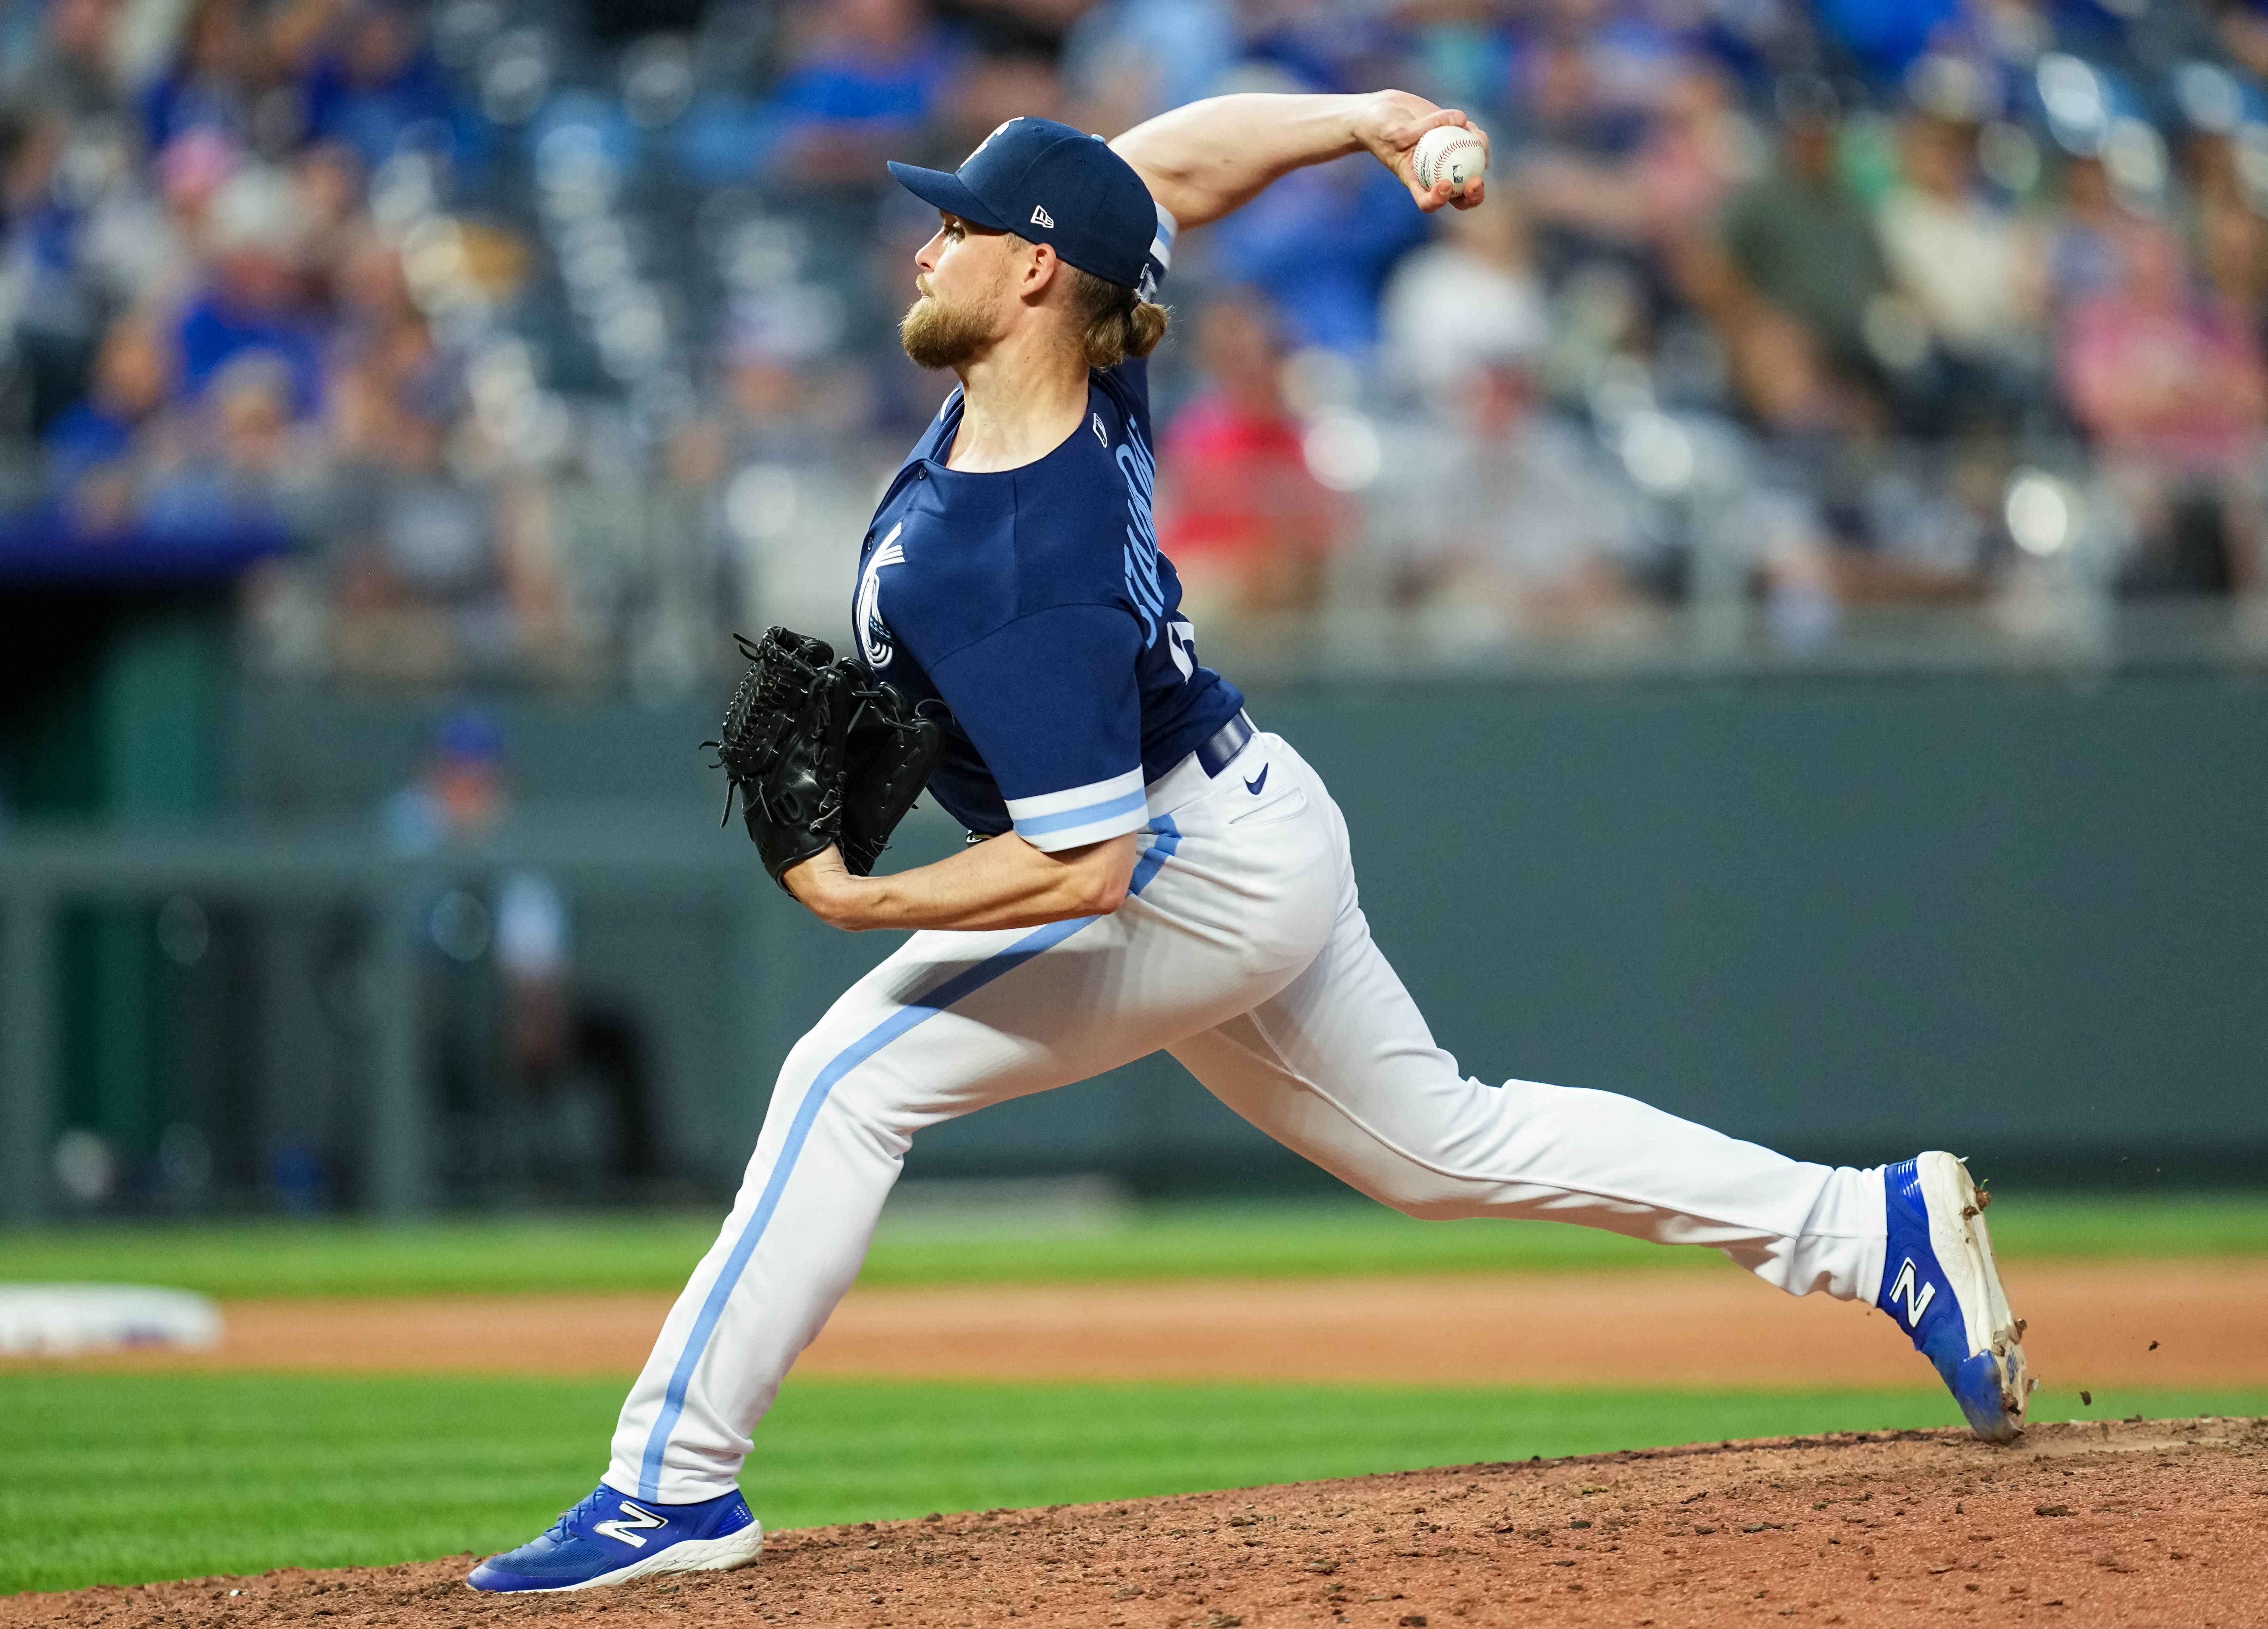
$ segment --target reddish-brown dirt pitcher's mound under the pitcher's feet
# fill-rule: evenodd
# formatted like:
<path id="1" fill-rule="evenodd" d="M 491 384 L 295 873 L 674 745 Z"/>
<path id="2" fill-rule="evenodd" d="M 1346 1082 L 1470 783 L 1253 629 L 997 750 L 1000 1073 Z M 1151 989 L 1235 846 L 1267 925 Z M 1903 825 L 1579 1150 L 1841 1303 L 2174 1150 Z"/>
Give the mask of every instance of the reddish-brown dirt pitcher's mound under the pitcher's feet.
<path id="1" fill-rule="evenodd" d="M 2268 1420 L 1719 1443 L 778 1534 L 755 1570 L 474 1595 L 469 1556 L 18 1595 L 18 1624 L 2268 1620 Z"/>

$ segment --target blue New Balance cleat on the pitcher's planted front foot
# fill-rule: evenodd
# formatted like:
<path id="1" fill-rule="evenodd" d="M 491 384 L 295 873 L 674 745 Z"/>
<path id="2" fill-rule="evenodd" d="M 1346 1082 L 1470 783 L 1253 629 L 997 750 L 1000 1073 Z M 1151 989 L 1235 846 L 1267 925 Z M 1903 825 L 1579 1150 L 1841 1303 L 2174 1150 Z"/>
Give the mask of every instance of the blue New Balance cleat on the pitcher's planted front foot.
<path id="1" fill-rule="evenodd" d="M 551 1527 L 465 1579 L 476 1590 L 587 1590 L 658 1572 L 730 1572 L 764 1550 L 764 1527 L 739 1488 L 701 1504 L 599 1491 Z"/>

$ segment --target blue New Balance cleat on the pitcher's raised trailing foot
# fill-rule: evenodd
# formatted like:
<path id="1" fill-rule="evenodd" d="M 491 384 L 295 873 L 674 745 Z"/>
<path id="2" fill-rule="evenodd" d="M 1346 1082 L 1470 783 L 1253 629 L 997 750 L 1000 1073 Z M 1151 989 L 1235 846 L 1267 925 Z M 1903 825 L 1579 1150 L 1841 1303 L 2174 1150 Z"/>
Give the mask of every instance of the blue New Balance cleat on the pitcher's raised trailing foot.
<path id="1" fill-rule="evenodd" d="M 1969 1166 L 1946 1153 L 1882 1168 L 1889 1248 L 1876 1307 L 1914 1336 L 1987 1443 L 2023 1429 L 2032 1382 L 2023 1366 L 2023 1318 L 2009 1311 L 1984 1232 L 1987 1196 Z"/>

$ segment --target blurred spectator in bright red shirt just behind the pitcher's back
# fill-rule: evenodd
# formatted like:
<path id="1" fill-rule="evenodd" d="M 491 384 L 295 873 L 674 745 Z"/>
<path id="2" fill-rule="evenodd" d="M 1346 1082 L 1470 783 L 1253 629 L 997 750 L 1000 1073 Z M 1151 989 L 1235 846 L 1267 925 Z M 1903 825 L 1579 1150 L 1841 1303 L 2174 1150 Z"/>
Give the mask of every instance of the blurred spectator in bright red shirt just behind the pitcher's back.
<path id="1" fill-rule="evenodd" d="M 1250 293 L 1213 299 L 1195 352 L 1209 388 L 1166 429 L 1159 547 L 1200 624 L 1213 613 L 1309 610 L 1343 515 L 1309 474 L 1268 304 Z"/>

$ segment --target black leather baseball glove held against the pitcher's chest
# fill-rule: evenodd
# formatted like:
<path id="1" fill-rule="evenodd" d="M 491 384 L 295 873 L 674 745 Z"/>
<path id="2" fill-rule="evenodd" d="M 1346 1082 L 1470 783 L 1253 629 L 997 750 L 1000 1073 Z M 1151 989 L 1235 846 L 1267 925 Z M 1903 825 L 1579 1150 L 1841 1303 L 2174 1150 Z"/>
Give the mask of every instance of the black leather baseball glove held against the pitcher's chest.
<path id="1" fill-rule="evenodd" d="M 735 635 L 737 638 L 737 635 Z M 943 751 L 943 731 L 826 642 L 767 628 L 739 640 L 748 672 L 723 715 L 717 749 L 733 817 L 739 792 L 748 837 L 771 880 L 837 844 L 869 876 Z"/>

